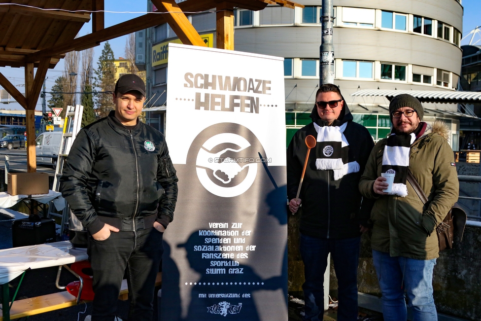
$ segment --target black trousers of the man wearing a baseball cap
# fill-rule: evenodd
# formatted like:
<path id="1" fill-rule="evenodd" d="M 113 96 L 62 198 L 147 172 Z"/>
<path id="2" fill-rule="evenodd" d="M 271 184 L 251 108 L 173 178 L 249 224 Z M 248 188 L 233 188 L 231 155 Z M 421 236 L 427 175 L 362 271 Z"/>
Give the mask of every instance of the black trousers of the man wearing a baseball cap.
<path id="1" fill-rule="evenodd" d="M 129 320 L 152 320 L 155 278 L 162 258 L 163 233 L 155 228 L 112 232 L 104 241 L 89 238 L 93 270 L 92 321 L 113 321 L 127 268 Z"/>

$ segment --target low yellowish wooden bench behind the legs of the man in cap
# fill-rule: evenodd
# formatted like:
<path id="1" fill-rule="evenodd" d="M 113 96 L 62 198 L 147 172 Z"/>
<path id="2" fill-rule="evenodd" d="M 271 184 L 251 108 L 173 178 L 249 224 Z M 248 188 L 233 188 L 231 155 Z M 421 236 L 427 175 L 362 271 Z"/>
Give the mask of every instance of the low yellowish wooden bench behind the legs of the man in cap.
<path id="1" fill-rule="evenodd" d="M 162 272 L 157 273 L 155 286 L 162 285 Z M 129 290 L 127 287 L 127 280 L 122 281 L 120 288 L 120 300 L 127 300 L 129 297 Z M 88 301 L 82 300 L 81 303 Z M 33 298 L 16 300 L 13 302 L 10 309 L 10 320 L 19 319 L 23 317 L 33 316 L 36 314 L 54 311 L 71 307 L 77 304 L 77 298 L 67 291 L 51 293 L 46 295 L 39 295 Z M 3 314 L 0 310 L 0 321 L 3 321 Z"/>

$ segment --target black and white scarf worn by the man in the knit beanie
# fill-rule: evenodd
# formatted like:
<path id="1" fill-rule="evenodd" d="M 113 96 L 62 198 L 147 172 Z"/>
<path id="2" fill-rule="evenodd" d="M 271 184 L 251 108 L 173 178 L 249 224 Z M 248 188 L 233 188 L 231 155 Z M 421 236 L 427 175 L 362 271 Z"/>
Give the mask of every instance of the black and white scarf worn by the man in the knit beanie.
<path id="1" fill-rule="evenodd" d="M 416 140 L 416 135 L 391 134 L 387 138 L 382 154 L 381 173 L 394 173 L 394 184 L 389 195 L 405 197 L 408 195 L 406 180 L 408 176 L 409 155 L 411 145 Z"/>

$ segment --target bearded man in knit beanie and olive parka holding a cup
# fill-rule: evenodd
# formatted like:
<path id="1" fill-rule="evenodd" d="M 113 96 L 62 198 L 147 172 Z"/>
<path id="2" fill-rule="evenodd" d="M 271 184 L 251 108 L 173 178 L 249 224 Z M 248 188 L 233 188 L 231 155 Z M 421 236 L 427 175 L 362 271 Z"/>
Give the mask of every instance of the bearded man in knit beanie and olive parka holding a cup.
<path id="1" fill-rule="evenodd" d="M 448 129 L 442 121 L 428 129 L 421 121 L 421 103 L 408 94 L 392 99 L 389 114 L 391 135 L 376 144 L 359 183 L 363 196 L 376 201 L 371 246 L 382 313 L 386 321 L 406 321 L 406 291 L 412 320 L 437 321 L 433 268 L 439 249 L 434 230 L 459 192 Z M 394 174 L 392 192 L 384 192 L 388 183 L 381 173 Z M 410 173 L 426 194 L 426 204 L 407 180 Z"/>

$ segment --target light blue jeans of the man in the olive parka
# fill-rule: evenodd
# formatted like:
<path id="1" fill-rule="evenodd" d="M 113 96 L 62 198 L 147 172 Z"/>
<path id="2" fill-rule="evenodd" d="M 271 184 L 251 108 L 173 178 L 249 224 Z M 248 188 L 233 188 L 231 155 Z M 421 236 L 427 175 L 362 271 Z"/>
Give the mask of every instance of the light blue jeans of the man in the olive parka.
<path id="1" fill-rule="evenodd" d="M 382 293 L 385 321 L 406 321 L 406 300 L 412 308 L 413 321 L 437 321 L 433 298 L 433 269 L 436 259 L 416 260 L 373 250 L 373 261 Z M 404 285 L 403 285 L 404 284 Z"/>

